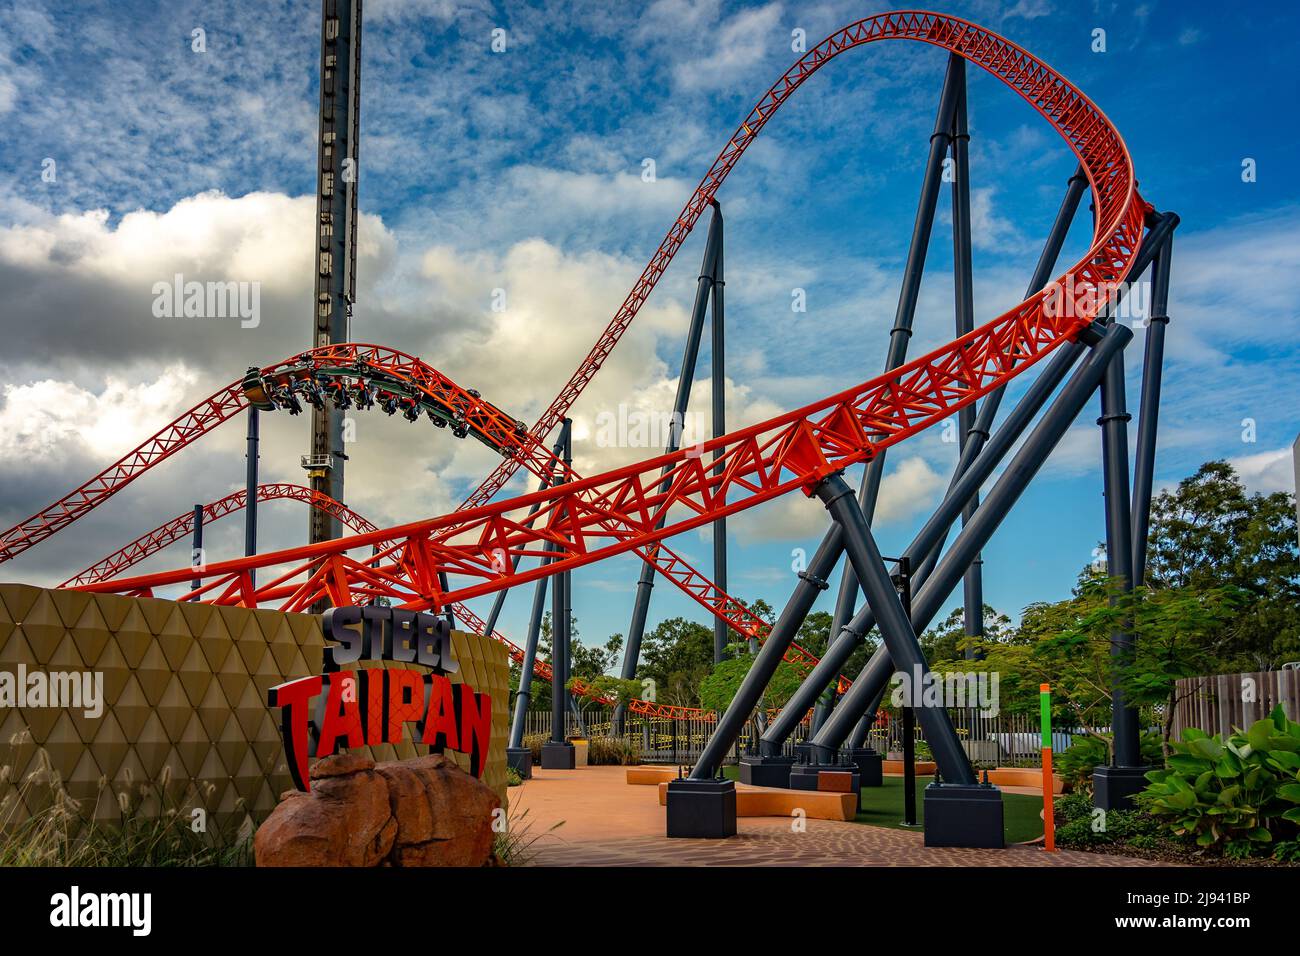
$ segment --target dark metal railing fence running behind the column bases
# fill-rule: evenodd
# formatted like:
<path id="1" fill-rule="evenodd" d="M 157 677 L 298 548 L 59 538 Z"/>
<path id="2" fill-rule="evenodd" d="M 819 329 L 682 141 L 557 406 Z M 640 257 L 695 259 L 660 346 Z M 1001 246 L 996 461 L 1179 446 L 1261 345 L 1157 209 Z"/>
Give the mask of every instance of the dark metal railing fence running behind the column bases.
<path id="1" fill-rule="evenodd" d="M 581 721 L 569 711 L 566 734 L 571 736 L 604 736 L 610 732 L 612 708 L 589 705 L 581 711 Z M 975 708 L 952 708 L 948 711 L 953 727 L 978 766 L 1043 766 L 1037 714 L 997 714 L 987 717 Z M 714 732 L 712 719 L 670 721 L 644 718 L 628 714 L 624 718 L 624 737 L 637 744 L 644 763 L 689 765 L 693 763 Z M 549 710 L 529 710 L 524 722 L 525 734 L 550 736 L 551 714 Z M 811 719 L 805 717 L 785 741 L 784 752 L 793 756 L 794 747 L 810 736 Z M 741 753 L 757 745 L 762 730 L 750 718 L 736 747 L 732 748 L 724 763 L 736 763 Z M 1052 749 L 1061 753 L 1070 747 L 1078 730 L 1056 730 L 1052 735 Z M 924 731 L 918 726 L 915 739 L 926 743 Z M 871 730 L 870 745 L 881 753 L 902 752 L 902 721 L 876 722 Z M 922 754 L 926 748 L 922 748 Z"/>

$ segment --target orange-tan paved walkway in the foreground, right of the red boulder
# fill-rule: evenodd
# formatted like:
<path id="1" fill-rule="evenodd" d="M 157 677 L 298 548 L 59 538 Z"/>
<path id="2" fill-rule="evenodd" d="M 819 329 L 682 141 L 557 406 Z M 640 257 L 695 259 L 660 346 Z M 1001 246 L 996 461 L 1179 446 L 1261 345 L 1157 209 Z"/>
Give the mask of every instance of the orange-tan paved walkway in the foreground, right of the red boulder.
<path id="1" fill-rule="evenodd" d="M 940 849 L 919 832 L 827 819 L 796 832 L 780 817 L 741 817 L 728 840 L 670 840 L 655 787 L 629 787 L 624 767 L 534 770 L 510 791 L 526 810 L 540 866 L 1152 866 L 1145 860 L 1034 847 Z M 563 822 L 562 822 L 563 821 Z M 551 830 L 555 823 L 560 826 Z"/>

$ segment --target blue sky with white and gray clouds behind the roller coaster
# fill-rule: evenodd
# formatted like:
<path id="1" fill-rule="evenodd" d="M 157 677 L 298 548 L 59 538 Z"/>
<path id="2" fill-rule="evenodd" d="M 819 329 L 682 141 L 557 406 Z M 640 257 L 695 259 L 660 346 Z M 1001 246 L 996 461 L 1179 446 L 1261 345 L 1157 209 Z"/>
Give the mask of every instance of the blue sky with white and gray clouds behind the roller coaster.
<path id="1" fill-rule="evenodd" d="M 767 86 L 809 46 L 884 8 L 861 3 L 524 4 L 370 0 L 363 42 L 360 293 L 354 338 L 424 356 L 532 420 L 595 339 L 682 200 Z M 1291 4 L 1223 16 L 1208 3 L 957 3 L 1083 88 L 1132 153 L 1176 239 L 1157 481 L 1234 459 L 1258 490 L 1292 489 L 1300 431 L 1295 304 L 1300 195 Z M 20 3 L 0 36 L 0 518 L 13 523 L 237 377 L 307 343 L 318 4 Z M 191 31 L 203 29 L 205 51 Z M 491 31 L 506 30 L 503 53 Z M 1093 52 L 1093 31 L 1106 35 Z M 874 44 L 838 57 L 763 133 L 719 194 L 727 216 L 733 424 L 879 373 L 944 53 Z M 1074 160 L 1018 96 L 970 69 L 976 321 L 1014 304 Z M 1291 105 L 1288 105 L 1291 104 Z M 55 182 L 42 178 L 53 159 Z M 644 160 L 655 181 L 644 182 Z M 1257 179 L 1243 182 L 1243 160 Z M 952 337 L 948 196 L 913 354 Z M 1087 247 L 1080 216 L 1062 258 Z M 595 442 L 597 415 L 671 403 L 703 229 L 575 408 L 577 466 L 654 449 Z M 159 326 L 150 287 L 261 284 L 257 329 Z M 490 308 L 504 289 L 508 307 Z M 809 310 L 790 311 L 803 289 Z M 1136 385 L 1143 333 L 1127 356 Z M 707 410 L 707 346 L 693 407 Z M 1023 384 L 1013 386 L 1018 393 Z M 1134 390 L 1136 395 L 1136 390 Z M 1136 398 L 1131 399 L 1136 410 Z M 1008 406 L 1009 407 L 1009 406 Z M 377 419 L 377 416 L 373 416 Z M 1100 436 L 1080 419 L 984 553 L 985 594 L 1015 617 L 1067 593 L 1102 537 Z M 1253 431 L 1243 425 L 1253 421 Z M 380 523 L 441 514 L 485 475 L 486 450 L 406 423 L 360 425 L 348 503 Z M 6 579 L 57 583 L 242 480 L 237 425 L 151 472 Z M 1253 438 L 1244 441 L 1243 434 Z M 300 480 L 306 424 L 266 427 L 264 477 Z M 901 549 L 937 503 L 956 447 L 937 433 L 889 453 L 878 522 Z M 396 463 L 396 464 L 394 464 Z M 855 476 L 854 479 L 855 480 Z M 520 483 L 519 488 L 523 488 Z M 294 503 L 263 509 L 265 546 L 300 542 Z M 213 525 L 238 553 L 238 519 Z M 820 509 L 789 501 L 733 522 L 732 591 L 780 605 Z M 707 563 L 707 537 L 682 536 Z M 185 563 L 173 549 L 140 568 Z M 578 572 L 586 640 L 627 627 L 636 567 Z M 692 613 L 655 589 L 651 624 Z M 829 598 L 823 601 L 828 605 Z M 507 604 L 523 631 L 528 600 Z"/>

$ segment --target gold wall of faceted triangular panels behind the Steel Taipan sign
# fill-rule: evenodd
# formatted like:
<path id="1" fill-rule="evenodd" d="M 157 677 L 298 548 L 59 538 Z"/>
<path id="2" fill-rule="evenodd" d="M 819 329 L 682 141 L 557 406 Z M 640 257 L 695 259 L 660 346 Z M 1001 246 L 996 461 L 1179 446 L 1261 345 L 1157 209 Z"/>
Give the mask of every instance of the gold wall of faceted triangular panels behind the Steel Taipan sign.
<path id="1" fill-rule="evenodd" d="M 101 822 L 121 819 L 124 795 L 147 812 L 161 799 L 186 813 L 202 806 L 221 825 L 261 822 L 292 787 L 266 691 L 320 674 L 324 643 L 308 614 L 0 584 L 0 671 L 103 674 L 98 717 L 0 705 L 0 825 L 39 813 L 60 788 Z M 504 806 L 510 659 L 463 631 L 452 648 L 451 680 L 491 696 L 482 779 Z M 384 761 L 428 748 L 407 739 L 356 752 Z M 469 770 L 468 754 L 447 756 Z"/>

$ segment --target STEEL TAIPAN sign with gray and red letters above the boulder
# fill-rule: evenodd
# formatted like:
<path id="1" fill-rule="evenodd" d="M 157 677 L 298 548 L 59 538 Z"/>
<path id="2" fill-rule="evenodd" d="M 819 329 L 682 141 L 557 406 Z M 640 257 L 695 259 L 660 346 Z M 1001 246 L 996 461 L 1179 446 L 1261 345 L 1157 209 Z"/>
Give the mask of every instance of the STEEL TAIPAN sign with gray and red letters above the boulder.
<path id="1" fill-rule="evenodd" d="M 433 753 L 469 754 L 469 771 L 482 774 L 491 735 L 491 697 L 464 683 L 451 653 L 451 624 L 428 611 L 391 607 L 332 607 L 321 618 L 324 674 L 270 688 L 280 708 L 281 736 L 294 786 L 309 791 L 308 757 L 358 747 L 400 744 L 407 723 L 412 739 Z M 413 663 L 410 667 L 344 670 L 363 661 Z"/>

